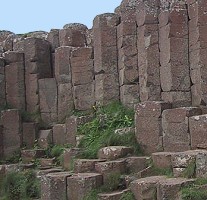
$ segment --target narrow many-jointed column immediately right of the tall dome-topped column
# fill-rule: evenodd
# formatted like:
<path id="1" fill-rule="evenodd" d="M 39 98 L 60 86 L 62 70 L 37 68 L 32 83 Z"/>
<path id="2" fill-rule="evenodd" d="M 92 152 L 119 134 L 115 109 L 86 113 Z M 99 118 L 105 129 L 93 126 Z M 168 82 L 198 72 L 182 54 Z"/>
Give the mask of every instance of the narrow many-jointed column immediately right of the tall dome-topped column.
<path id="1" fill-rule="evenodd" d="M 137 25 L 136 18 L 128 19 L 124 10 L 126 7 L 121 6 L 121 23 L 117 28 L 120 100 L 124 105 L 133 107 L 139 101 Z"/>

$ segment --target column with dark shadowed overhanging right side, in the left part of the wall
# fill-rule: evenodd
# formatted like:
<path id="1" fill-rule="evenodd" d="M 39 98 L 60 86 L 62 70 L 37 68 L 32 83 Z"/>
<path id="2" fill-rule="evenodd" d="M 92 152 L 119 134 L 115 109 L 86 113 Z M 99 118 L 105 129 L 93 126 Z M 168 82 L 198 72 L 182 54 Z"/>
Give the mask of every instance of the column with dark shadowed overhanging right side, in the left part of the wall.
<path id="1" fill-rule="evenodd" d="M 26 109 L 39 112 L 38 80 L 51 78 L 50 43 L 40 38 L 24 40 Z"/>

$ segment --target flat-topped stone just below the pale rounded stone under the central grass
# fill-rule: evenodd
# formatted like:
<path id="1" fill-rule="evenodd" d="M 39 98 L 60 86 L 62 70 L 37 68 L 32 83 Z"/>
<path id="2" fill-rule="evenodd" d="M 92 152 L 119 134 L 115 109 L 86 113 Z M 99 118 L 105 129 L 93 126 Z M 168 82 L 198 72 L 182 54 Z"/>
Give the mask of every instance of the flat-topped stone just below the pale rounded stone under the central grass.
<path id="1" fill-rule="evenodd" d="M 126 172 L 126 160 L 114 160 L 95 164 L 95 170 L 102 174 L 104 184 L 108 184 L 111 174 L 124 174 Z"/>

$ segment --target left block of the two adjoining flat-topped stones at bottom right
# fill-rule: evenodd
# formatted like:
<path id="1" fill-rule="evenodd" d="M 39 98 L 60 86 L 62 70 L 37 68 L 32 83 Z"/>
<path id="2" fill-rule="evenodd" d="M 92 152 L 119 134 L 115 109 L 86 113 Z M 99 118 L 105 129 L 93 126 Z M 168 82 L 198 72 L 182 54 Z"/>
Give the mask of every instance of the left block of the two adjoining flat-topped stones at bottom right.
<path id="1" fill-rule="evenodd" d="M 165 179 L 163 176 L 141 178 L 131 182 L 130 189 L 133 192 L 135 199 L 157 199 L 157 184 L 163 179 Z"/>

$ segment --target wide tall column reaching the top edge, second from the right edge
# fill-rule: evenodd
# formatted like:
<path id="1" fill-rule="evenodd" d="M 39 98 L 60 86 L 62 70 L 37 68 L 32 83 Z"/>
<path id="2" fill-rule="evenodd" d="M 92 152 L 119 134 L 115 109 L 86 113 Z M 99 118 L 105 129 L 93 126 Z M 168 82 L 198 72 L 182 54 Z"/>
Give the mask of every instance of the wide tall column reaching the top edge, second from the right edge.
<path id="1" fill-rule="evenodd" d="M 191 105 L 188 12 L 184 2 L 164 2 L 159 15 L 162 100 L 173 107 Z"/>

